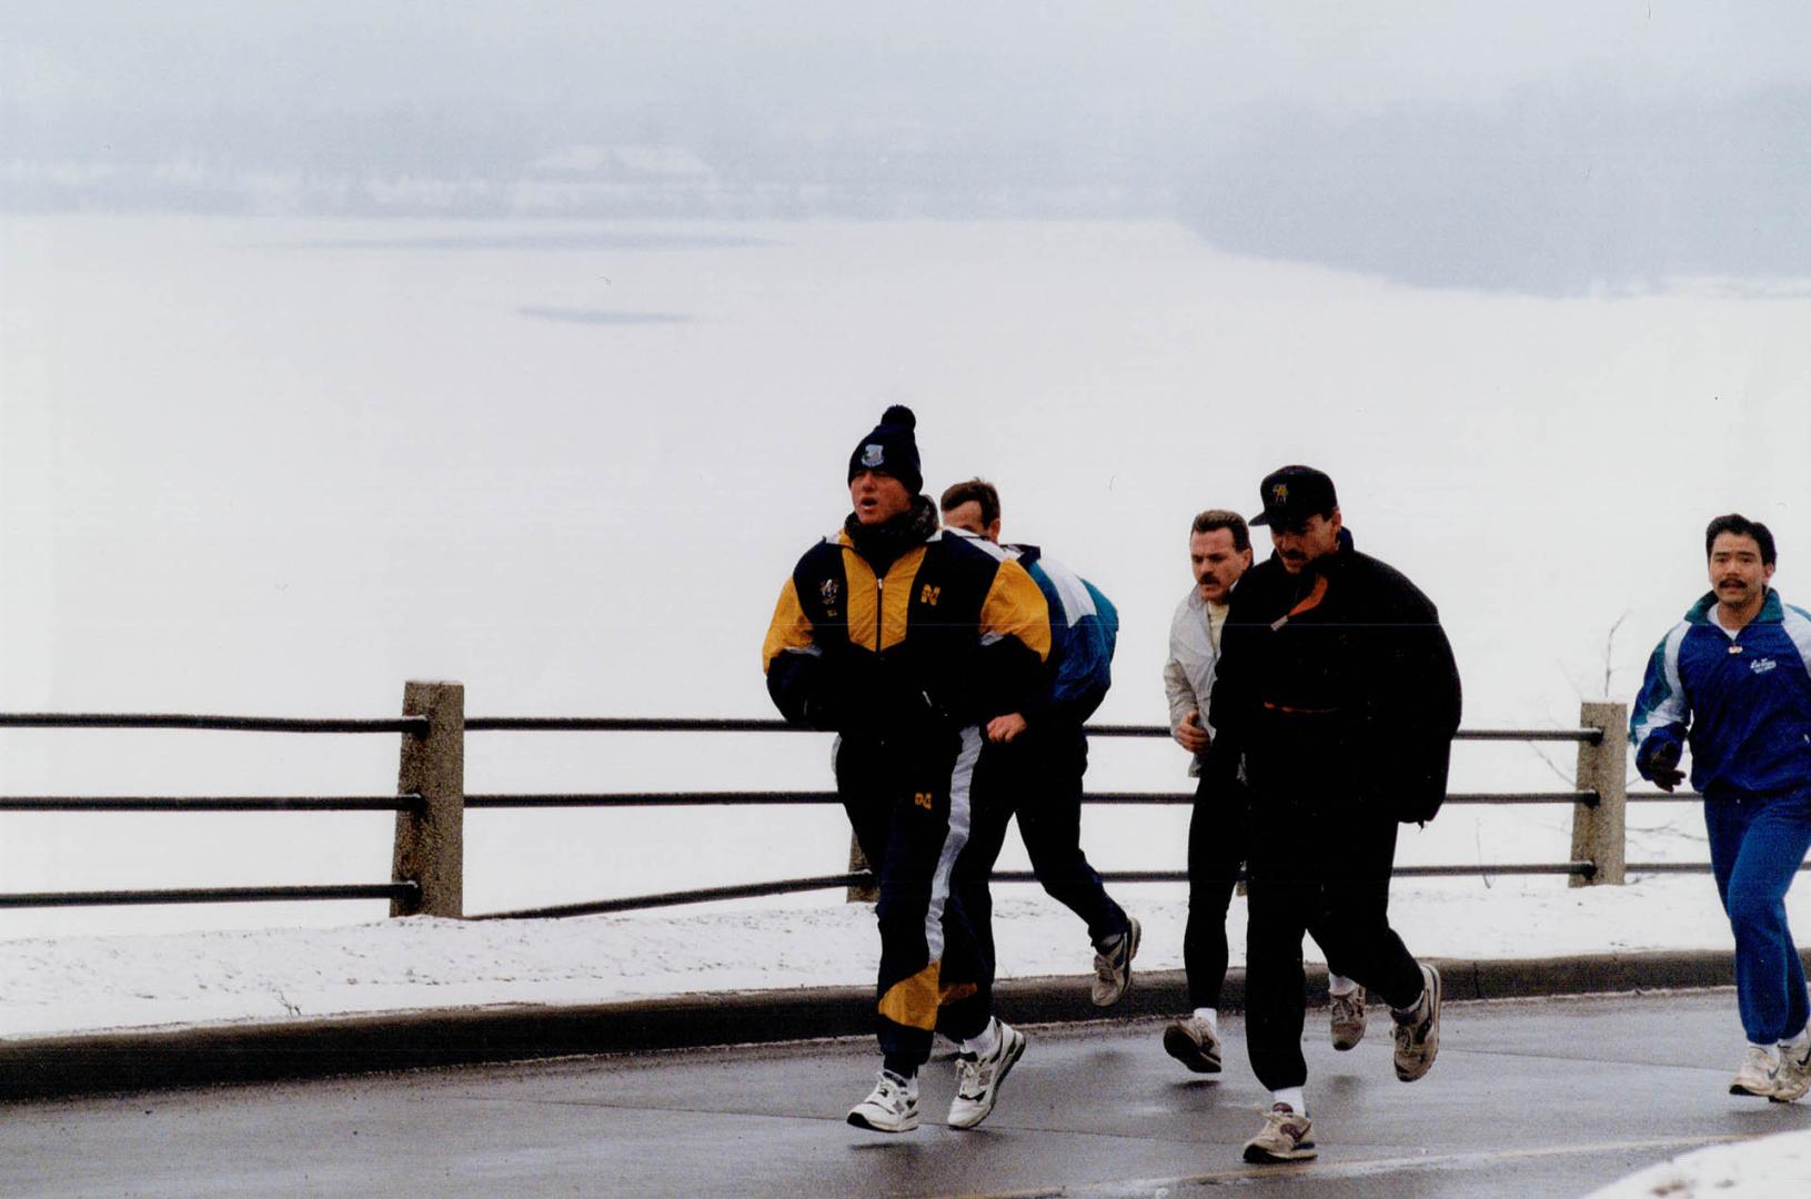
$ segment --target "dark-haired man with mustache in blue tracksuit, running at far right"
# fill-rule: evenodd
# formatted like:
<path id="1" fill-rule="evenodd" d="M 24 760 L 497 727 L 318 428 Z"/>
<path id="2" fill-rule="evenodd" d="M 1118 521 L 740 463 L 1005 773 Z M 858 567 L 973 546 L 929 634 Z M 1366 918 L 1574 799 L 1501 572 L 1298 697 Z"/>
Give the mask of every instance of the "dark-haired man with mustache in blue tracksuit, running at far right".
<path id="1" fill-rule="evenodd" d="M 1786 924 L 1811 848 L 1811 614 L 1768 587 L 1775 549 L 1760 522 L 1719 516 L 1704 552 L 1711 590 L 1648 659 L 1628 735 L 1635 770 L 1666 791 L 1691 746 L 1748 1032 L 1730 1094 L 1789 1103 L 1811 1090 L 1811 1003 Z"/>

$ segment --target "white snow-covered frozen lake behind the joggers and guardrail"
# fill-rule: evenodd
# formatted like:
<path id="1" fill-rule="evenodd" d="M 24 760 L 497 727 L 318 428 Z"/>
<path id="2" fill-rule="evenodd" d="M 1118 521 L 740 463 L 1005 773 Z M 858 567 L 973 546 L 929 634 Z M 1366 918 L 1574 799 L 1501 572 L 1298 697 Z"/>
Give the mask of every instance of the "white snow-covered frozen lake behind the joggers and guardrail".
<path id="1" fill-rule="evenodd" d="M 0 221 L 0 710 L 759 715 L 759 643 L 891 402 L 927 487 L 1117 603 L 1099 719 L 1159 723 L 1188 518 L 1311 462 L 1442 607 L 1467 726 L 1628 699 L 1717 513 L 1795 580 L 1811 299 L 1574 299 L 1228 255 L 1163 223 Z M 1262 549 L 1262 543 L 1260 543 Z M 1614 630 L 1614 634 L 1612 634 Z M 469 791 L 824 788 L 815 735 L 474 734 Z M 393 737 L 0 732 L 0 791 L 382 793 Z M 1183 788 L 1096 743 L 1099 790 Z M 1570 746 L 1460 750 L 1561 788 Z M 1632 857 L 1702 857 L 1657 806 Z M 1184 810 L 1090 810 L 1181 868 Z M 1402 860 L 1559 860 L 1557 810 L 1449 810 Z M 467 909 L 835 871 L 835 810 L 474 813 Z M 1018 868 L 1009 857 L 1003 866 Z M 377 882 L 389 817 L 0 815 L 0 889 Z M 1552 886 L 1563 887 L 1561 880 Z M 835 895 L 800 897 L 828 904 Z M 0 913 L 0 936 L 340 924 L 364 906 Z"/>

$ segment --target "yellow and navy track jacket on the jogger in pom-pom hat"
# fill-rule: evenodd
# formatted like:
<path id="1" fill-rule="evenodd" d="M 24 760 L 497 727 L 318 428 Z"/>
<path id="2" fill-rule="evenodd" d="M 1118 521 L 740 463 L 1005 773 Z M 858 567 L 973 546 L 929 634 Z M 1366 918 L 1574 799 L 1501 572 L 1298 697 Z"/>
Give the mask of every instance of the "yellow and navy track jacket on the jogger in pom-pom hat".
<path id="1" fill-rule="evenodd" d="M 1049 688 L 1050 612 L 991 542 L 933 532 L 877 574 L 848 531 L 781 589 L 762 647 L 768 694 L 793 724 L 884 735 L 877 688 L 909 688 L 953 724 L 1023 712 Z"/>

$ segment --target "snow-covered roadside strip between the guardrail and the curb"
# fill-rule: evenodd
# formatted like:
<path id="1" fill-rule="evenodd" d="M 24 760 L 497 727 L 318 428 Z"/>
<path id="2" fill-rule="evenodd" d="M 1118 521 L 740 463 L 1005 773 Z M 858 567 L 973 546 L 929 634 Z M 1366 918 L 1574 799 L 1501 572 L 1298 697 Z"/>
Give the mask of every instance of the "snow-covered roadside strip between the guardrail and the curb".
<path id="1" fill-rule="evenodd" d="M 1117 887 L 1145 924 L 1137 965 L 1179 969 L 1179 887 Z M 1081 922 L 1036 889 L 996 887 L 1001 976 L 1085 974 Z M 1789 895 L 1811 927 L 1811 886 Z M 1416 880 L 1394 889 L 1396 927 L 1427 956 L 1536 958 L 1720 949 L 1730 931 L 1708 877 L 1626 887 L 1559 878 Z M 1228 913 L 1242 962 L 1244 900 Z M 1309 956 L 1313 944 L 1309 942 Z M 284 1020 L 471 1003 L 590 1003 L 710 991 L 864 985 L 878 940 L 871 909 L 717 904 L 569 920 L 377 920 L 0 942 L 0 1036 L 217 1020 Z M 1730 1011 L 1731 1058 L 1740 1049 Z"/>

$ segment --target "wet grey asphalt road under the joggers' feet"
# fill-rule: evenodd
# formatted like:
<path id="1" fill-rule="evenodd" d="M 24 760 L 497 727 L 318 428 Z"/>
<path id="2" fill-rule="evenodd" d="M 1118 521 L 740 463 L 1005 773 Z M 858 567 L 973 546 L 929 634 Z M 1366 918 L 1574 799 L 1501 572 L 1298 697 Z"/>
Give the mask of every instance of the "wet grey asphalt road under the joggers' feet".
<path id="1" fill-rule="evenodd" d="M 1011 1018 L 1011 1012 L 1007 1012 Z M 1452 1003 L 1398 1083 L 1387 1016 L 1349 1054 L 1309 1012 L 1320 1157 L 1248 1166 L 1264 1094 L 1186 1074 L 1161 1023 L 1030 1029 L 974 1132 L 849 1128 L 867 1041 L 574 1058 L 0 1107 L 0 1195 L 1579 1195 L 1719 1141 L 1811 1128 L 1811 1101 L 1728 1094 L 1730 991 Z"/>

